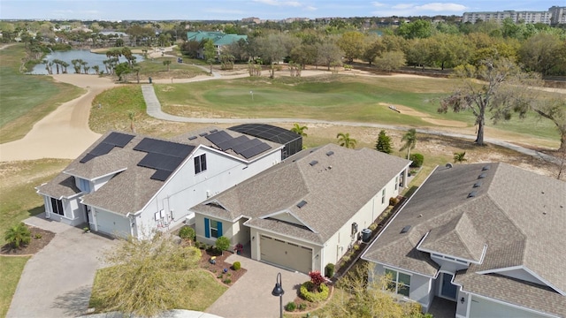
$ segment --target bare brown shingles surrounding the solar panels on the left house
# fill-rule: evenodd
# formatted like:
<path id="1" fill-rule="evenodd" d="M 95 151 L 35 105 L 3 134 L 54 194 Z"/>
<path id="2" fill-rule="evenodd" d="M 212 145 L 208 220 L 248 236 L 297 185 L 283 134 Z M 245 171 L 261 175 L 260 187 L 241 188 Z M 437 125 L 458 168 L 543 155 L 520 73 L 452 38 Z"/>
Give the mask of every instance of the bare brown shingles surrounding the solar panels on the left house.
<path id="1" fill-rule="evenodd" d="M 200 133 L 210 133 L 214 130 L 221 130 L 217 127 L 207 127 L 201 130 L 186 133 L 173 138 L 173 141 L 181 144 L 192 146 L 204 145 L 210 148 L 217 148 L 210 140 L 199 136 Z M 61 196 L 71 196 L 80 193 L 80 189 L 74 186 L 74 180 L 71 176 L 79 178 L 95 179 L 109 174 L 116 174 L 109 182 L 99 188 L 95 193 L 89 193 L 82 196 L 85 204 L 92 205 L 96 208 L 104 208 L 114 213 L 127 215 L 140 211 L 147 202 L 164 186 L 164 181 L 150 178 L 156 170 L 138 166 L 142 158 L 147 153 L 134 150 L 134 147 L 144 138 L 149 136 L 135 135 L 134 139 L 126 144 L 124 148 L 115 147 L 106 155 L 99 155 L 90 159 L 87 163 L 80 163 L 80 158 L 88 154 L 88 152 L 101 143 L 112 132 L 103 134 L 103 136 L 91 145 L 83 154 L 81 154 L 73 163 L 69 164 L 65 170 L 53 178 L 47 184 L 38 186 L 38 193 L 47 194 L 51 197 L 59 198 Z M 233 137 L 241 136 L 226 130 Z M 194 140 L 188 140 L 189 136 L 197 136 Z M 149 137 L 161 140 L 154 137 Z M 282 148 L 282 145 L 271 141 L 268 143 L 272 149 Z M 217 148 L 218 149 L 218 148 Z M 220 151 L 220 150 L 219 150 Z M 270 150 L 271 151 L 271 150 Z M 226 154 L 233 155 L 241 160 L 246 160 L 243 156 L 236 154 L 233 150 L 226 150 Z M 249 158 L 250 161 L 256 160 L 264 153 Z"/>

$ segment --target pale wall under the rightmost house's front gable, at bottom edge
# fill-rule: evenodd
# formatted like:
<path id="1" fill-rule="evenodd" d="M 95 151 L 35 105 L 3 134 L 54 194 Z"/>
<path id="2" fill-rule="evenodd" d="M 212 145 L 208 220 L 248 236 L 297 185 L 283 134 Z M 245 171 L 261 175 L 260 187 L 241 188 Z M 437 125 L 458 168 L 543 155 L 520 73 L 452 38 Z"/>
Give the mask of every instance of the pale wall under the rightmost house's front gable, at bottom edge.
<path id="1" fill-rule="evenodd" d="M 505 304 L 495 302 L 493 300 L 488 300 L 480 298 L 478 296 L 471 296 L 470 303 L 470 318 L 508 318 L 508 317 L 520 317 L 520 318 L 541 318 L 548 317 L 545 314 L 537 314 L 532 311 L 527 311 L 517 307 L 511 307 Z"/>

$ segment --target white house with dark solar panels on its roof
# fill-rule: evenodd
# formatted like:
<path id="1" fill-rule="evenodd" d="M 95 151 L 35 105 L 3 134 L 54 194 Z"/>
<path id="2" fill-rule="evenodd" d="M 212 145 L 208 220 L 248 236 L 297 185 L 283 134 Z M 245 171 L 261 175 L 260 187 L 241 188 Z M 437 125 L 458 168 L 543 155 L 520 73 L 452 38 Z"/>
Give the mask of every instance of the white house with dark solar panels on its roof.
<path id="1" fill-rule="evenodd" d="M 109 132 L 36 189 L 52 220 L 145 238 L 186 221 L 187 209 L 198 202 L 279 163 L 283 147 L 216 127 L 171 140 Z"/>

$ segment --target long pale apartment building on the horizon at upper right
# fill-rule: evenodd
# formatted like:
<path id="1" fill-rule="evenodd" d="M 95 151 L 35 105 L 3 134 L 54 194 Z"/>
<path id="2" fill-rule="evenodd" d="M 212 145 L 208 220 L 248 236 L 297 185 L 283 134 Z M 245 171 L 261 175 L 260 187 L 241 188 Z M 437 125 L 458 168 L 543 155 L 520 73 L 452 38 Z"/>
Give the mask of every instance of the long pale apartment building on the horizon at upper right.
<path id="1" fill-rule="evenodd" d="M 464 12 L 462 22 L 481 21 L 503 22 L 511 19 L 515 23 L 543 23 L 557 25 L 566 23 L 566 7 L 553 6 L 548 11 L 478 11 Z"/>

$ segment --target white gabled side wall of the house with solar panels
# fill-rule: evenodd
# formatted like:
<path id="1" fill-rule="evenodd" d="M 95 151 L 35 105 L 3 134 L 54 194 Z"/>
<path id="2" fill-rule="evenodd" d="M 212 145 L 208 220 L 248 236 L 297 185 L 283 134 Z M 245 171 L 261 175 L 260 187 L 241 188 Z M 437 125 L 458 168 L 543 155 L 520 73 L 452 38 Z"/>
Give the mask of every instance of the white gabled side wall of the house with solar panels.
<path id="1" fill-rule="evenodd" d="M 195 174 L 195 157 L 206 154 L 207 170 Z M 281 152 L 274 151 L 252 163 L 245 163 L 225 153 L 200 147 L 176 171 L 141 213 L 136 214 L 136 231 L 166 231 L 184 222 L 189 208 L 225 191 L 281 161 Z M 164 210 L 164 218 L 155 214 Z M 203 220 L 200 220 L 203 221 Z M 195 227 L 204 224 L 195 220 Z M 203 229 L 202 229 L 203 231 Z M 210 244 L 210 243 L 209 243 Z"/>

